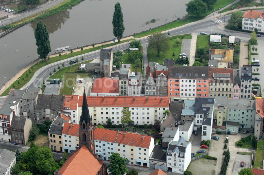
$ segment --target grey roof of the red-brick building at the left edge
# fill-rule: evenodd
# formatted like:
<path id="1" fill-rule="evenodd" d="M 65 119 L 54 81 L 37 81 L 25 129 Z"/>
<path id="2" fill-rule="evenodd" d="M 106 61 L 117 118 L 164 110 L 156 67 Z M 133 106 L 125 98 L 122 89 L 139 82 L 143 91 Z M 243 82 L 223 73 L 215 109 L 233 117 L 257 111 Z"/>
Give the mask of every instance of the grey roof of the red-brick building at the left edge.
<path id="1" fill-rule="evenodd" d="M 15 92 L 15 96 L 13 92 Z M 10 107 L 17 105 L 24 93 L 25 93 L 24 90 L 17 90 L 17 89 L 12 90 L 10 94 L 8 95 L 6 101 L 4 102 L 2 108 L 0 109 L 0 114 L 10 115 L 11 110 L 12 110 Z"/>

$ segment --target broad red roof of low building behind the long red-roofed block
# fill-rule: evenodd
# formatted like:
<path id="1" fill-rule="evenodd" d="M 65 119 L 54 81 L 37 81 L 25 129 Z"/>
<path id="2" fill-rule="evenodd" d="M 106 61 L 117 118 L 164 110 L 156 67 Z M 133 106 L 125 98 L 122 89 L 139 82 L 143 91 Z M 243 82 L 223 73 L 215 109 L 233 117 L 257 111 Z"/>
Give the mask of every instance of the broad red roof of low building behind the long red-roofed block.
<path id="1" fill-rule="evenodd" d="M 93 82 L 92 93 L 117 93 L 119 94 L 119 80 L 108 77 L 97 78 Z"/>

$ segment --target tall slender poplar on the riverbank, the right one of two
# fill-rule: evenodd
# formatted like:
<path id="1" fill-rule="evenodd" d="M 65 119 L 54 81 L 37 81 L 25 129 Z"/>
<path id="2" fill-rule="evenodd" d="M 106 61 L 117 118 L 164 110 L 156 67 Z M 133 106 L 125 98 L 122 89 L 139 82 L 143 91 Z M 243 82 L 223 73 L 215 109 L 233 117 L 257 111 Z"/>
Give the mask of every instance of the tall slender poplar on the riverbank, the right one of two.
<path id="1" fill-rule="evenodd" d="M 120 3 L 117 2 L 115 4 L 115 11 L 113 14 L 112 24 L 114 27 L 113 33 L 114 33 L 114 36 L 117 37 L 118 42 L 120 42 L 120 39 L 122 38 L 124 30 L 125 30 L 125 26 L 123 22 L 124 22 L 124 19 L 123 19 L 122 8 L 120 6 Z"/>

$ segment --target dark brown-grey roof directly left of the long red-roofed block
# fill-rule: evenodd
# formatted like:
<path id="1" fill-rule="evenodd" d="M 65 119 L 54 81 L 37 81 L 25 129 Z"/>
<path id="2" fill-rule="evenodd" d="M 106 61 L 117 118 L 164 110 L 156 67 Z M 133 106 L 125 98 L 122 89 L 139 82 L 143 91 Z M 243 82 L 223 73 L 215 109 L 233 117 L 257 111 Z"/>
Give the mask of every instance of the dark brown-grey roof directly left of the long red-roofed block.
<path id="1" fill-rule="evenodd" d="M 63 108 L 63 95 L 39 95 L 37 98 L 36 109 L 55 109 L 62 110 Z"/>

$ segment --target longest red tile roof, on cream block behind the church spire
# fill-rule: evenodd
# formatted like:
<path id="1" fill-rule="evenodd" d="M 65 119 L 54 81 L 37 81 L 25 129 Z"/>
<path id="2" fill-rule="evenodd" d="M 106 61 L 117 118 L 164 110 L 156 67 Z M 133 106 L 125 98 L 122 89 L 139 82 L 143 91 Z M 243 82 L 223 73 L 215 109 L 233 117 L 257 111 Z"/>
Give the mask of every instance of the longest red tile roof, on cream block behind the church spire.
<path id="1" fill-rule="evenodd" d="M 162 102 L 161 102 L 162 99 Z M 79 96 L 78 106 L 82 106 L 83 96 Z M 133 96 L 87 96 L 88 106 L 109 107 L 169 107 L 169 97 L 134 97 Z"/>

